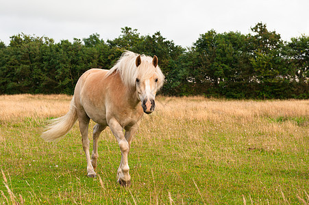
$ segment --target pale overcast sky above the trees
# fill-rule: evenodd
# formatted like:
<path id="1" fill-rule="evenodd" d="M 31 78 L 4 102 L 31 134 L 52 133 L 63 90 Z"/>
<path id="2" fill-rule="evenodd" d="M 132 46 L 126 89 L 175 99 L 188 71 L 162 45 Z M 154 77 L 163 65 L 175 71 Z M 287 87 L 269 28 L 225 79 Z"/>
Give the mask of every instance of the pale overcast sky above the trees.
<path id="1" fill-rule="evenodd" d="M 92 33 L 112 40 L 121 27 L 132 27 L 191 46 L 210 29 L 247 34 L 260 22 L 290 40 L 309 35 L 308 10 L 308 0 L 0 0 L 0 40 L 8 45 L 21 32 L 55 42 Z"/>

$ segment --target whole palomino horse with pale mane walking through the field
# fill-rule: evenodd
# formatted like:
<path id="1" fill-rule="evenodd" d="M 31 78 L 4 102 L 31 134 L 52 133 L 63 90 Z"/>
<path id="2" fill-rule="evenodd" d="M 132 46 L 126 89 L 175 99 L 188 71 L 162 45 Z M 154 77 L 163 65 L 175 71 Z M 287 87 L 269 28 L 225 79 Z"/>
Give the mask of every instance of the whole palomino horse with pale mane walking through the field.
<path id="1" fill-rule="evenodd" d="M 131 180 L 127 154 L 132 137 L 138 129 L 143 112 L 153 112 L 156 92 L 162 87 L 163 81 L 164 75 L 156 55 L 152 58 L 126 51 L 110 70 L 90 69 L 82 74 L 75 86 L 68 113 L 52 120 L 42 133 L 42 138 L 55 141 L 66 135 L 78 119 L 87 159 L 87 174 L 92 178 L 97 175 L 94 168 L 97 167 L 99 156 L 99 135 L 109 126 L 121 150 L 117 181 L 127 186 Z M 93 128 L 91 159 L 88 139 L 90 119 L 97 123 Z"/>

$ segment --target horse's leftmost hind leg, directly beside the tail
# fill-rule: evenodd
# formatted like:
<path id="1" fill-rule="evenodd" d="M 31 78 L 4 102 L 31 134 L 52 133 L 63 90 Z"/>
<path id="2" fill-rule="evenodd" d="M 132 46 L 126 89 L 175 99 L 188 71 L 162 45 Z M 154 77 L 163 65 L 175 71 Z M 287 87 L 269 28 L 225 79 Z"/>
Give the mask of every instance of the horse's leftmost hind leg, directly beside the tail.
<path id="1" fill-rule="evenodd" d="M 78 121 L 79 121 L 79 131 L 82 134 L 83 149 L 86 154 L 87 176 L 93 178 L 93 177 L 96 177 L 97 174 L 95 173 L 95 170 L 92 167 L 90 153 L 89 153 L 88 126 L 89 126 L 90 118 L 85 113 L 85 111 L 81 111 L 78 109 L 77 109 L 77 116 L 78 116 Z"/>

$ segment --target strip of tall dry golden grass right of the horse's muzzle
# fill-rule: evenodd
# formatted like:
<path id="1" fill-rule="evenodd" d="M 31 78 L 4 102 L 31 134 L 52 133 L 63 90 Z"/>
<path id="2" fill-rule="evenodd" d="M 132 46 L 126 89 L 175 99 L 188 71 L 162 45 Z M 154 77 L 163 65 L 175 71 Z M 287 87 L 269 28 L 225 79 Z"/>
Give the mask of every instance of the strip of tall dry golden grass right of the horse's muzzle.
<path id="1" fill-rule="evenodd" d="M 217 100 L 203 97 L 161 97 L 158 109 L 174 118 L 190 120 L 227 120 L 257 117 L 298 117 L 309 116 L 308 100 Z"/>

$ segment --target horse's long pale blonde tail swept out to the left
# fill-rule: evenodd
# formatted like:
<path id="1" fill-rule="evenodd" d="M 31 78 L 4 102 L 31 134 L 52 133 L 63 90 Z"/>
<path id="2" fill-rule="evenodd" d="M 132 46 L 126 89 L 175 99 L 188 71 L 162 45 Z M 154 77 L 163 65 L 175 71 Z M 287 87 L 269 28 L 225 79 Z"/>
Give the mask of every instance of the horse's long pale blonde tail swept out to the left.
<path id="1" fill-rule="evenodd" d="M 71 105 L 66 115 L 49 120 L 48 125 L 45 127 L 45 131 L 42 133 L 42 139 L 45 141 L 55 141 L 59 137 L 66 135 L 77 120 L 77 111 L 74 105 L 74 97 L 71 100 Z"/>

